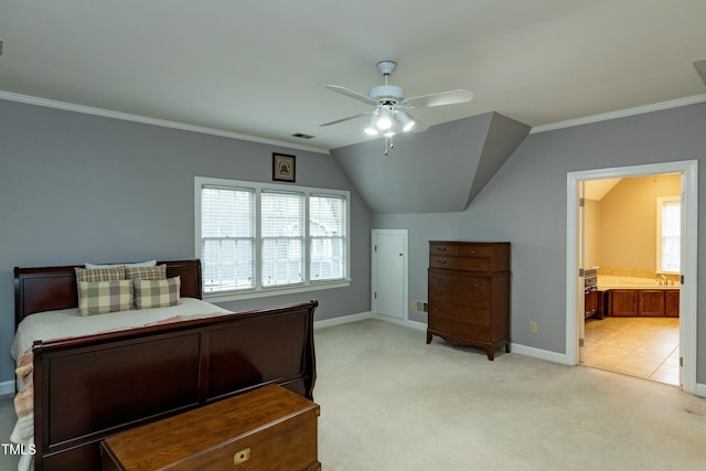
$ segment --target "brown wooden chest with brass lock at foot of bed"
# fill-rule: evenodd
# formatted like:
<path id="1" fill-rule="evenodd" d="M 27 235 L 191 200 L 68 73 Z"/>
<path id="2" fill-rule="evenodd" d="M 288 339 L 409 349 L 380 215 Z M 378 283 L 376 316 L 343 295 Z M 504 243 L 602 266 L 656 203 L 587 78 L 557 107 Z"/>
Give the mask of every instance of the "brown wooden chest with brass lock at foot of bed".
<path id="1" fill-rule="evenodd" d="M 268 385 L 104 440 L 103 469 L 319 470 L 318 416 L 317 404 Z"/>

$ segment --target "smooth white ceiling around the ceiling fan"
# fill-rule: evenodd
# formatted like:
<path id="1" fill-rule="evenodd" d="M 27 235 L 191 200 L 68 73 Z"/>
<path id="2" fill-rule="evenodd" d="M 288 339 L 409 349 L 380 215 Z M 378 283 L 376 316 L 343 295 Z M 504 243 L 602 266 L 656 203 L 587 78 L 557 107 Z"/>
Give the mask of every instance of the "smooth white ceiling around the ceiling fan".
<path id="1" fill-rule="evenodd" d="M 24 96 L 327 150 L 366 140 L 394 60 L 428 125 L 498 111 L 532 127 L 703 100 L 704 0 L 0 0 L 0 98 Z M 20 96 L 17 96 L 17 95 Z M 291 137 L 302 132 L 311 140 Z"/>

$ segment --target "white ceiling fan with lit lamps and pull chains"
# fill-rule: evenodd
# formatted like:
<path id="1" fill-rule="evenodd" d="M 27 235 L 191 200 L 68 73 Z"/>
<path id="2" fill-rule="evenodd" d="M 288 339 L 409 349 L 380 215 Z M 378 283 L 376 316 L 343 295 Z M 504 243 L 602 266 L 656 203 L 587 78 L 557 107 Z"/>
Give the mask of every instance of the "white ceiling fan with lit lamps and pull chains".
<path id="1" fill-rule="evenodd" d="M 393 61 L 381 61 L 376 65 L 377 71 L 385 77 L 385 85 L 378 85 L 367 90 L 367 96 L 339 85 L 327 85 L 331 92 L 357 99 L 375 108 L 371 111 L 360 113 L 335 121 L 324 122 L 320 126 L 331 126 L 339 122 L 370 116 L 365 133 L 370 136 L 383 135 L 386 138 L 385 153 L 387 153 L 387 140 L 392 148 L 392 137 L 398 132 L 424 131 L 427 129 L 424 122 L 409 113 L 410 109 L 431 106 L 456 105 L 470 101 L 473 93 L 466 89 L 440 92 L 430 95 L 421 95 L 405 98 L 405 90 L 396 85 L 389 85 L 389 75 L 395 72 L 397 64 Z"/>

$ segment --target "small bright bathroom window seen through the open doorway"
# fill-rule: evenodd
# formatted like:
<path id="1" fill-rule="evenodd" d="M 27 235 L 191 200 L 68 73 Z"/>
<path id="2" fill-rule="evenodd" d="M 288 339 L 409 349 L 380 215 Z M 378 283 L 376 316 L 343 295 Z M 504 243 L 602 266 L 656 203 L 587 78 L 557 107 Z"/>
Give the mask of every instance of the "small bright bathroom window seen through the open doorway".
<path id="1" fill-rule="evenodd" d="M 681 216 L 677 196 L 657 199 L 657 271 L 680 272 Z"/>

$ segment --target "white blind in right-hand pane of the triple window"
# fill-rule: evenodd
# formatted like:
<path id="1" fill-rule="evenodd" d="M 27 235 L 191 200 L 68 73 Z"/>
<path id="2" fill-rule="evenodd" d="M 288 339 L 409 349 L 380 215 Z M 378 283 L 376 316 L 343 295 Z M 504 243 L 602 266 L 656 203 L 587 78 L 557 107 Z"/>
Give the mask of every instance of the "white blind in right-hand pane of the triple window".
<path id="1" fill-rule="evenodd" d="M 312 280 L 338 279 L 344 276 L 345 217 L 345 199 L 329 195 L 309 197 L 309 271 Z"/>

